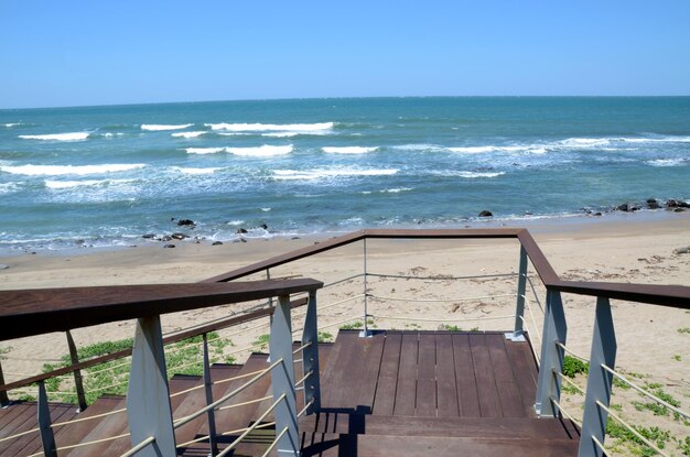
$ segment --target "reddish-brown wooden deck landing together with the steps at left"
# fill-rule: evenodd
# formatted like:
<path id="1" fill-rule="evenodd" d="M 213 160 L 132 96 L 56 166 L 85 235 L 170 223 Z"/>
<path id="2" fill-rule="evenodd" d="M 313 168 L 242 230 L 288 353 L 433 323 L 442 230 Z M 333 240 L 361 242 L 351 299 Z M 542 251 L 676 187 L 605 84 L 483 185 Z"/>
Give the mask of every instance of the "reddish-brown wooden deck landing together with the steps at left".
<path id="1" fill-rule="evenodd" d="M 528 342 L 506 340 L 503 333 L 380 331 L 359 338 L 341 330 L 334 345 L 320 345 L 322 410 L 302 417 L 303 456 L 574 456 L 579 431 L 571 423 L 537 418 L 532 410 L 537 366 Z M 266 367 L 265 355 L 244 366 L 218 366 L 214 379 L 255 372 Z M 246 380 L 214 387 L 214 398 Z M 175 377 L 171 392 L 201 383 L 197 377 Z M 234 402 L 270 394 L 268 378 Z M 299 395 L 301 396 L 301 395 Z M 104 396 L 84 413 L 53 405 L 55 422 L 122 407 L 123 399 Z M 172 401 L 175 418 L 205 404 L 202 391 Z M 248 426 L 270 401 L 216 414 L 217 431 Z M 302 400 L 298 400 L 298 405 Z M 0 438 L 35 427 L 35 404 L 0 410 Z M 57 446 L 98 440 L 127 432 L 125 414 L 56 429 Z M 177 444 L 206 434 L 203 417 L 180 428 Z M 274 431 L 250 436 L 235 456 L 262 455 Z M 237 434 L 223 437 L 219 447 Z M 36 434 L 0 443 L 0 456 L 28 456 L 41 450 Z M 62 456 L 119 456 L 129 448 L 120 438 L 58 451 Z M 208 454 L 206 443 L 190 444 L 179 455 Z"/>

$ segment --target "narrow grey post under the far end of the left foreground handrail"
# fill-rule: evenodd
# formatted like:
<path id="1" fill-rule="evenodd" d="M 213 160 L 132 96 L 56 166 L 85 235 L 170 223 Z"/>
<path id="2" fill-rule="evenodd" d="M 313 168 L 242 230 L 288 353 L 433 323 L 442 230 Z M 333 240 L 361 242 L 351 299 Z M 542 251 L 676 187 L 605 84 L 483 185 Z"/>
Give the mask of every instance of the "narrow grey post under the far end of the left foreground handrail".
<path id="1" fill-rule="evenodd" d="M 313 401 L 306 407 L 306 414 L 321 410 L 321 380 L 319 374 L 319 325 L 316 323 L 316 291 L 309 293 L 306 316 L 304 317 L 304 333 L 302 345 L 311 345 L 302 350 L 302 367 L 304 374 L 312 372 L 304 382 L 304 404 Z"/>

